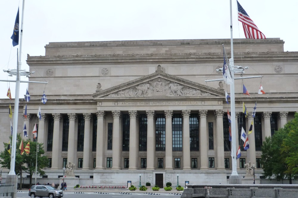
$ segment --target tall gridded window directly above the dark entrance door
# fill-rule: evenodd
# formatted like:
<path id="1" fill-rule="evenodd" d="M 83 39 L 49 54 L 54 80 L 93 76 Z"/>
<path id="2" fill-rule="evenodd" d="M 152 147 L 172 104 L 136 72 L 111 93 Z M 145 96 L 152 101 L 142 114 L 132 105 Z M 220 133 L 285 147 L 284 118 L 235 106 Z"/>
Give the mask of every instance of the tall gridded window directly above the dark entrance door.
<path id="1" fill-rule="evenodd" d="M 166 119 L 164 115 L 156 115 L 155 121 L 155 150 L 165 151 L 166 150 Z"/>

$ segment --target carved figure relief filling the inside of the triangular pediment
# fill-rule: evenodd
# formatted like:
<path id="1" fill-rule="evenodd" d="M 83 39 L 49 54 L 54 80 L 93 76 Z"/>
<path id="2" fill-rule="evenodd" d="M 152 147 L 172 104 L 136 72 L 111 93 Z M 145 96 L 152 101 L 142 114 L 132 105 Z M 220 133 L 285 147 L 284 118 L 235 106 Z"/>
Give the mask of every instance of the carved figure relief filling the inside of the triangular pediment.
<path id="1" fill-rule="evenodd" d="M 108 97 L 147 97 L 147 96 L 214 96 L 191 87 L 185 87 L 175 82 L 156 79 L 135 87 L 123 89 L 109 94 Z"/>

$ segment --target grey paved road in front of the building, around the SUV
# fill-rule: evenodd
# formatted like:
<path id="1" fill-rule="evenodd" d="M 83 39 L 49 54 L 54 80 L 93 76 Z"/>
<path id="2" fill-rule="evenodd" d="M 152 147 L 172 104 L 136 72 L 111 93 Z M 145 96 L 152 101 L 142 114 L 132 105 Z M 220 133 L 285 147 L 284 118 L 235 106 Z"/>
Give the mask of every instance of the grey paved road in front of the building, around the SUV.
<path id="1" fill-rule="evenodd" d="M 100 191 L 98 191 L 100 192 Z M 123 198 L 139 198 L 139 197 L 144 197 L 144 198 L 180 198 L 181 195 L 175 195 L 175 194 L 170 194 L 173 192 L 169 193 L 160 193 L 157 192 L 156 194 L 160 195 L 150 195 L 150 194 L 144 194 L 144 192 L 134 192 L 131 194 L 120 194 L 118 192 L 104 192 L 108 194 L 98 194 L 98 193 L 93 193 L 93 192 L 85 192 L 84 194 L 79 194 L 79 193 L 74 193 L 74 192 L 64 192 L 63 198 L 116 198 L 116 197 L 123 197 Z M 28 195 L 28 190 L 24 190 L 24 192 L 17 192 L 17 198 L 24 198 L 24 197 L 29 197 Z"/>

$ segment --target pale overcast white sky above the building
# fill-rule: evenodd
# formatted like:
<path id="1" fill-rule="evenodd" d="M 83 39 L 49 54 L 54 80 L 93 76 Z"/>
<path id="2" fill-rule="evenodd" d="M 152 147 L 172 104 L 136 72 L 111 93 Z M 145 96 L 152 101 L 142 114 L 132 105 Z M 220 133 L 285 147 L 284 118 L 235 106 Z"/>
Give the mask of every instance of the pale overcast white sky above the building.
<path id="1" fill-rule="evenodd" d="M 232 2 L 233 38 L 245 38 L 236 0 Z M 283 39 L 285 51 L 298 51 L 297 0 L 239 3 L 267 38 Z M 18 6 L 21 27 L 22 0 L 0 0 L 1 80 L 15 80 L 3 69 L 16 68 L 19 45 L 13 47 L 10 37 Z M 229 26 L 229 0 L 25 0 L 21 69 L 29 70 L 27 54 L 44 56 L 49 42 L 226 39 Z M 15 83 L 1 81 L 0 98 L 7 98 L 8 86 L 15 98 Z M 21 83 L 20 97 L 26 88 L 27 83 Z"/>

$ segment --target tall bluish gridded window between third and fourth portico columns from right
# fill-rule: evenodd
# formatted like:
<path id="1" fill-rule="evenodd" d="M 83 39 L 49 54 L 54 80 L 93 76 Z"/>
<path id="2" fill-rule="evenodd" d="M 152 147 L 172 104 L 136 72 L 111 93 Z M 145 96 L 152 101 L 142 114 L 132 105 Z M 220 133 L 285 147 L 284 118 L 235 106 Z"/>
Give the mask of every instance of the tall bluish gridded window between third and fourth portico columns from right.
<path id="1" fill-rule="evenodd" d="M 182 118 L 174 114 L 172 118 L 172 145 L 173 151 L 182 151 Z"/>

